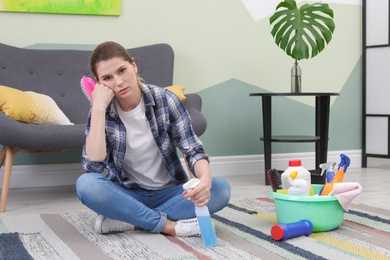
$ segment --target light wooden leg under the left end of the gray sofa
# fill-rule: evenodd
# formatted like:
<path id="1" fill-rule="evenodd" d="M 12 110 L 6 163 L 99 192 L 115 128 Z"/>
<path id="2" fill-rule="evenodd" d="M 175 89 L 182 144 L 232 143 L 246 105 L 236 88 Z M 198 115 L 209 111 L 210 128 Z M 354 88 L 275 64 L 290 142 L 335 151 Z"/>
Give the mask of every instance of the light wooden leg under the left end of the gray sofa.
<path id="1" fill-rule="evenodd" d="M 5 167 L 4 167 L 4 177 L 3 177 L 3 189 L 1 190 L 1 201 L 0 201 L 0 212 L 5 212 L 5 209 L 7 207 L 7 200 L 8 200 L 8 190 L 9 190 L 9 183 L 11 180 L 11 171 L 12 171 L 12 164 L 14 160 L 14 148 L 13 147 L 3 147 L 3 150 L 0 154 L 0 166 L 4 162 L 5 159 Z"/>

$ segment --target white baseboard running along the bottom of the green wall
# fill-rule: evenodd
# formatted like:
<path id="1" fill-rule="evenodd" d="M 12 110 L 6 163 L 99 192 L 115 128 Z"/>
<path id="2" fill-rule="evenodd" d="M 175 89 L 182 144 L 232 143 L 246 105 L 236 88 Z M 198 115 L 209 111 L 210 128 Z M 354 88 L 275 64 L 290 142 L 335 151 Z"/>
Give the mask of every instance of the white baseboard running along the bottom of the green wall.
<path id="1" fill-rule="evenodd" d="M 331 151 L 328 153 L 328 162 L 340 161 L 340 154 L 344 153 L 351 159 L 350 168 L 361 167 L 361 150 Z M 285 169 L 291 159 L 302 160 L 302 165 L 314 169 L 314 153 L 274 154 L 272 168 Z M 184 164 L 184 162 L 182 161 Z M 264 174 L 263 155 L 216 156 L 210 158 L 213 176 L 233 176 L 246 174 Z M 43 164 L 43 165 L 16 165 L 12 168 L 10 188 L 32 188 L 46 186 L 74 185 L 77 178 L 83 173 L 79 163 Z M 4 167 L 0 170 L 2 182 Z"/>

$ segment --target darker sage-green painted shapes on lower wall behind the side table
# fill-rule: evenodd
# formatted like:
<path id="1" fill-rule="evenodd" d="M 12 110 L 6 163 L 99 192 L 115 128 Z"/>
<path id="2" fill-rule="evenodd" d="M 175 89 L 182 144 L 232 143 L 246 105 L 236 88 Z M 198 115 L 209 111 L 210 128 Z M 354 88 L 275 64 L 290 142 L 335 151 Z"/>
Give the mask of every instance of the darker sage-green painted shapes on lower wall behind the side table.
<path id="1" fill-rule="evenodd" d="M 334 101 L 329 119 L 329 150 L 361 149 L 361 60 Z M 210 155 L 263 153 L 261 97 L 249 93 L 266 89 L 231 79 L 199 94 L 208 129 L 202 136 Z M 314 100 L 314 97 L 312 97 Z M 314 107 L 287 97 L 272 99 L 272 132 L 276 135 L 314 135 Z M 275 153 L 312 152 L 314 144 L 274 143 Z"/>

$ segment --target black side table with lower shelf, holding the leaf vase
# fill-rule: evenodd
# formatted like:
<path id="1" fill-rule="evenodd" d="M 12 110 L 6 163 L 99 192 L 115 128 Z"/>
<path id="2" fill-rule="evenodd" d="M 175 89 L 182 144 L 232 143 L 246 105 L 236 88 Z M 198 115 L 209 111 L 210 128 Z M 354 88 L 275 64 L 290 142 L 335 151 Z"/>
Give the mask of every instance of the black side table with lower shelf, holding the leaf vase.
<path id="1" fill-rule="evenodd" d="M 267 171 L 271 169 L 272 142 L 303 143 L 315 142 L 315 165 L 318 167 L 326 162 L 328 153 L 329 133 L 329 106 L 330 97 L 338 96 L 339 93 L 250 93 L 250 96 L 262 98 L 263 106 L 263 137 L 264 142 L 264 173 L 265 184 L 269 185 Z M 314 136 L 273 136 L 272 135 L 272 97 L 276 96 L 314 96 L 315 103 L 315 135 Z M 310 170 L 312 183 L 324 184 L 325 174 L 321 176 L 320 169 Z"/>

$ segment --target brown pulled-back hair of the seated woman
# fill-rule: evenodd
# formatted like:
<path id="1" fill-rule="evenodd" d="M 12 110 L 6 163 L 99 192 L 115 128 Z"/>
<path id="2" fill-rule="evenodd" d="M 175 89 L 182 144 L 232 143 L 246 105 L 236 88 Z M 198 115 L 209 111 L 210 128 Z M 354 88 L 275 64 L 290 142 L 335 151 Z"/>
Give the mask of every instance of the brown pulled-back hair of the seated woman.
<path id="1" fill-rule="evenodd" d="M 98 78 L 96 73 L 96 64 L 100 61 L 106 61 L 112 58 L 122 58 L 125 61 L 133 63 L 135 60 L 130 56 L 127 50 L 116 42 L 103 42 L 99 44 L 91 54 L 89 65 L 92 73 Z"/>

